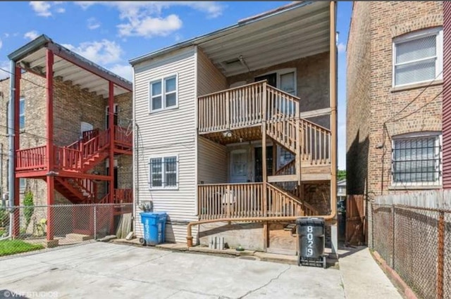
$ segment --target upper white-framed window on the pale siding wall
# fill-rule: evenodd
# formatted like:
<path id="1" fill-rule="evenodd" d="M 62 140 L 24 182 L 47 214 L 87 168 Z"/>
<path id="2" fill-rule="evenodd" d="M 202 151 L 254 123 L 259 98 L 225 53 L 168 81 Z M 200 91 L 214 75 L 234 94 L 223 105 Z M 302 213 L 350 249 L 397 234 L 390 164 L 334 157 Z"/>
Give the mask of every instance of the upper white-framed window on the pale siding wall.
<path id="1" fill-rule="evenodd" d="M 149 111 L 156 112 L 178 107 L 178 75 L 171 75 L 149 83 Z"/>

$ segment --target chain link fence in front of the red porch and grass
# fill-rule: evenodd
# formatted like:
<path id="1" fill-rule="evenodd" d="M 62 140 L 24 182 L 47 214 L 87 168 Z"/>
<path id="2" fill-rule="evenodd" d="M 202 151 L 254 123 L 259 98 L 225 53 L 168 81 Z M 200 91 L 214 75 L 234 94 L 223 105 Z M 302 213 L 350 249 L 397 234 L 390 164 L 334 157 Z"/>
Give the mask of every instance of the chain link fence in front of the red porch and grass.
<path id="1" fill-rule="evenodd" d="M 131 213 L 132 203 L 0 207 L 0 257 L 109 235 L 124 238 L 132 227 L 123 220 Z"/>

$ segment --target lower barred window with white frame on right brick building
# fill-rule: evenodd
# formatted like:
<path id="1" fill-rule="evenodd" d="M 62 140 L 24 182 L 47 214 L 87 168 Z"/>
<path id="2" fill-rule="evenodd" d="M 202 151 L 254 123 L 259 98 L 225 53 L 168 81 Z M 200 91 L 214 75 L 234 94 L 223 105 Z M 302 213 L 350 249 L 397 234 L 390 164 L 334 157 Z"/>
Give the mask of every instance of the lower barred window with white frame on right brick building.
<path id="1" fill-rule="evenodd" d="M 419 132 L 393 137 L 392 184 L 434 186 L 442 184 L 440 132 Z"/>

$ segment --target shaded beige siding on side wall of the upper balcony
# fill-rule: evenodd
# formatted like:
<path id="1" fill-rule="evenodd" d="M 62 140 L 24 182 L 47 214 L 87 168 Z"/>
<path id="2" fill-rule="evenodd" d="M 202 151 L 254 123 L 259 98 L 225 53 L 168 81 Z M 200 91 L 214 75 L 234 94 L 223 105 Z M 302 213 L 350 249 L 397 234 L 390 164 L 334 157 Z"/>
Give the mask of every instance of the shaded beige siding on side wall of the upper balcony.
<path id="1" fill-rule="evenodd" d="M 203 96 L 227 88 L 226 77 L 197 49 L 197 94 Z"/>

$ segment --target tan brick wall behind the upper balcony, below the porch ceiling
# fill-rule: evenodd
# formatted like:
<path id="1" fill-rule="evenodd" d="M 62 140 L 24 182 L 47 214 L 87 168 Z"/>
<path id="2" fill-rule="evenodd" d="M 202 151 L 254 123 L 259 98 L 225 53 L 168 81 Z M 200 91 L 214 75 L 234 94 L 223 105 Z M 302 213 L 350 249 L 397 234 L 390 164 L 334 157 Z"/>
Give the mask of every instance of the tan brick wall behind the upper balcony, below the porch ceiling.
<path id="1" fill-rule="evenodd" d="M 329 52 L 231 76 L 227 78 L 227 82 L 229 86 L 240 81 L 251 83 L 254 82 L 254 77 L 284 68 L 296 68 L 297 96 L 301 98 L 301 112 L 330 107 Z M 324 127 L 330 127 L 328 115 L 326 117 L 316 117 L 311 121 Z"/>

